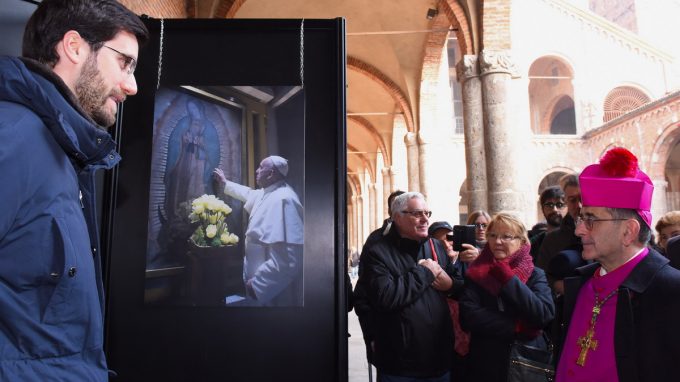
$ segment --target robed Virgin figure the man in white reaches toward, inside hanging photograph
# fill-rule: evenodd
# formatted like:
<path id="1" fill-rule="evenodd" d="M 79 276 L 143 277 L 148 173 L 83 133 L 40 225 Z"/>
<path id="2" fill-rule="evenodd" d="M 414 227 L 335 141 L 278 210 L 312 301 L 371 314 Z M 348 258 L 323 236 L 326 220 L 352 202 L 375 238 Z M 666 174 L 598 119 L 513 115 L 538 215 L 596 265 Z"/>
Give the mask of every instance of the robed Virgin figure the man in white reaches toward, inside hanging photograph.
<path id="1" fill-rule="evenodd" d="M 188 100 L 187 115 L 181 118 L 168 140 L 165 173 L 165 213 L 170 219 L 183 214 L 180 204 L 212 193 L 212 169 L 220 158 L 219 139 L 205 118 L 201 102 Z"/>

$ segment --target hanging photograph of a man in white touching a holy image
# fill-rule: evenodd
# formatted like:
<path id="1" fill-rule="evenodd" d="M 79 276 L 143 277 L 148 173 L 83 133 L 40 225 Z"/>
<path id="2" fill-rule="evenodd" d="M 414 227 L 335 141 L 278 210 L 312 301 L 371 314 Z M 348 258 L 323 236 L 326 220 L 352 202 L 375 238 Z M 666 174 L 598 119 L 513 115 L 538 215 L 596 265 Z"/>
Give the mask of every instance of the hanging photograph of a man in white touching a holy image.
<path id="1" fill-rule="evenodd" d="M 152 142 L 145 303 L 302 306 L 302 87 L 161 87 Z"/>

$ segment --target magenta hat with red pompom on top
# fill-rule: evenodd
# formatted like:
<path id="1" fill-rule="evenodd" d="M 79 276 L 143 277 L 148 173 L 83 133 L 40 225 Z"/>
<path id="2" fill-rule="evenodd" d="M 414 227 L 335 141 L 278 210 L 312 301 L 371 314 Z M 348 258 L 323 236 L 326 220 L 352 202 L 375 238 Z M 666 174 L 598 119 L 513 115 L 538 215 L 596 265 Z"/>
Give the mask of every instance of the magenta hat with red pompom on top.
<path id="1" fill-rule="evenodd" d="M 579 183 L 584 206 L 630 208 L 652 226 L 650 209 L 654 185 L 630 151 L 622 147 L 607 151 L 599 164 L 583 170 Z"/>

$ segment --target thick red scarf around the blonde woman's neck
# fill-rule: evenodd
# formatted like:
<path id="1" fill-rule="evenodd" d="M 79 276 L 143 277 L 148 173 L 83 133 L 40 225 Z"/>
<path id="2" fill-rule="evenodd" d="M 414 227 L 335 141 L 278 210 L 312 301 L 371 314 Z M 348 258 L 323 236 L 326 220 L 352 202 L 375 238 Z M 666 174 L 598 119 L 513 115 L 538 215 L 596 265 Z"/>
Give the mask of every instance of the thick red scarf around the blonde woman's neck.
<path id="1" fill-rule="evenodd" d="M 515 253 L 504 260 L 507 261 L 512 273 L 524 284 L 526 284 L 531 273 L 534 271 L 534 263 L 531 260 L 531 254 L 529 253 L 530 249 L 531 244 L 524 244 Z M 472 265 L 470 265 L 470 268 L 468 268 L 466 273 L 468 278 L 479 284 L 494 296 L 498 296 L 501 288 L 503 288 L 501 282 L 489 274 L 489 269 L 491 269 L 497 261 L 498 260 L 493 256 L 489 244 L 487 243 L 487 245 L 484 246 L 482 253 Z"/>

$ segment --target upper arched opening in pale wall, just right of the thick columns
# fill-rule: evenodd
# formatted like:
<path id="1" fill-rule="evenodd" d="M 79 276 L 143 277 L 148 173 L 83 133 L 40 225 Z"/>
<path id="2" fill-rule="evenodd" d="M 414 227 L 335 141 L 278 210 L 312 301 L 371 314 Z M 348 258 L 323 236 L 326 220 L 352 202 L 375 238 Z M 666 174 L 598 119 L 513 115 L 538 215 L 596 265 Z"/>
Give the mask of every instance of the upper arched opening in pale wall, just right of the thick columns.
<path id="1" fill-rule="evenodd" d="M 573 71 L 562 59 L 541 57 L 529 68 L 529 109 L 534 134 L 576 134 Z"/>

